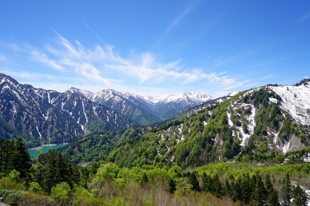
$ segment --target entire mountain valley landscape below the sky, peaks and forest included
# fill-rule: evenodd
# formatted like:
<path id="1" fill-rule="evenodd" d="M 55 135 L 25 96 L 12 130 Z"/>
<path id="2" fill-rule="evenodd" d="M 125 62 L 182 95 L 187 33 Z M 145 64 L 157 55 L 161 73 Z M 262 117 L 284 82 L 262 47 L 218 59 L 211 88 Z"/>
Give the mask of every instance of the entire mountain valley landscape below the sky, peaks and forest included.
<path id="1" fill-rule="evenodd" d="M 152 99 L 111 89 L 92 93 L 71 88 L 59 93 L 18 84 L 4 75 L 2 78 L 0 85 L 4 97 L 1 101 L 6 106 L 0 108 L 0 117 L 11 120 L 8 117 L 19 114 L 19 110 L 25 117 L 22 122 L 1 123 L 2 132 L 6 132 L 3 133 L 6 140 L 1 140 L 0 148 L 3 157 L 11 144 L 22 144 L 21 138 L 16 140 L 18 143 L 9 140 L 15 139 L 14 135 L 24 135 L 26 144 L 36 145 L 30 143 L 36 139 L 31 128 L 37 130 L 41 143 L 57 142 L 53 140 L 57 138 L 51 136 L 55 130 L 40 130 L 41 124 L 49 124 L 68 134 L 71 132 L 70 138 L 61 138 L 58 131 L 58 143 L 63 144 L 45 147 L 40 155 L 37 150 L 30 150 L 30 157 L 34 159 L 25 160 L 32 162 L 25 169 L 9 167 L 9 159 L 1 163 L 4 173 L 20 170 L 20 175 L 27 179 L 30 178 L 28 175 L 35 177 L 35 183 L 31 184 L 52 194 L 48 197 L 52 199 L 46 200 L 47 206 L 53 200 L 60 205 L 67 204 L 69 199 L 61 200 L 53 196 L 53 191 L 74 184 L 79 187 L 67 198 L 75 198 L 77 204 L 82 204 L 78 198 L 83 193 L 89 197 L 87 204 L 99 201 L 101 205 L 125 202 L 135 205 L 134 201 L 152 205 L 167 205 L 168 202 L 179 205 L 185 201 L 183 203 L 189 205 L 188 198 L 196 204 L 206 205 L 208 201 L 201 197 L 207 194 L 210 203 L 217 205 L 263 206 L 286 201 L 285 184 L 292 188 L 290 197 L 302 197 L 302 192 L 293 193 L 299 185 L 303 188 L 300 191 L 309 192 L 310 82 L 307 79 L 293 86 L 266 85 L 220 98 L 187 92 Z M 7 96 L 11 99 L 8 102 Z M 156 105 L 156 102 L 161 103 Z M 165 107 L 166 110 L 160 110 L 172 114 L 171 105 L 174 109 L 179 108 L 173 118 L 165 121 L 158 118 L 166 115 L 159 115 L 155 108 Z M 130 112 L 125 110 L 140 111 L 143 117 L 152 117 L 154 122 L 139 124 L 137 119 L 127 117 Z M 30 117 L 35 121 L 29 121 Z M 65 126 L 62 127 L 59 121 Z M 70 127 L 69 123 L 72 124 Z M 18 126 L 29 129 L 18 131 Z M 14 162 L 14 155 L 10 157 Z M 90 164 L 77 166 L 85 162 Z M 52 177 L 51 171 L 58 177 Z M 50 179 L 44 180 L 47 177 Z M 100 186 L 103 183 L 106 186 Z M 252 184 L 256 189 L 248 188 L 242 192 L 240 186 L 243 184 Z M 139 190 L 142 199 L 131 197 L 123 202 L 126 197 L 123 192 L 128 194 L 129 188 Z M 257 190 L 268 192 L 261 199 L 258 197 L 262 194 Z M 109 193 L 113 198 L 107 196 Z M 237 195 L 241 193 L 248 196 Z M 6 193 L 3 195 L 9 197 Z M 39 196 L 43 201 L 44 198 Z M 23 195 L 18 197 L 19 201 L 30 201 Z M 6 202 L 15 204 L 9 199 Z"/>

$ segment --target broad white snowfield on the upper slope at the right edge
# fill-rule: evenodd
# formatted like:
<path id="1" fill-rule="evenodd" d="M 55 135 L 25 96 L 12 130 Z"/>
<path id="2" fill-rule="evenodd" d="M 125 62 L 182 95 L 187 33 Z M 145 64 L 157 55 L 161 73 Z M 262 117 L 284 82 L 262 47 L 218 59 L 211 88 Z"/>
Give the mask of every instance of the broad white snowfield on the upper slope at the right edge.
<path id="1" fill-rule="evenodd" d="M 281 108 L 287 111 L 299 124 L 310 125 L 310 85 L 270 86 L 281 96 Z"/>

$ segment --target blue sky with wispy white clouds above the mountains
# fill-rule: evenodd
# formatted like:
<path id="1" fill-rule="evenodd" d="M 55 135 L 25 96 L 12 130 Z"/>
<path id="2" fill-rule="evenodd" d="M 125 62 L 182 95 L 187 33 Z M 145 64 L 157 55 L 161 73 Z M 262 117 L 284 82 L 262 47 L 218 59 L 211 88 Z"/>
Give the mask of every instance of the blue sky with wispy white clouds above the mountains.
<path id="1" fill-rule="evenodd" d="M 310 76 L 310 1 L 1 1 L 0 72 L 65 91 L 221 96 Z"/>

